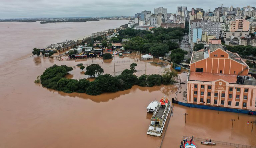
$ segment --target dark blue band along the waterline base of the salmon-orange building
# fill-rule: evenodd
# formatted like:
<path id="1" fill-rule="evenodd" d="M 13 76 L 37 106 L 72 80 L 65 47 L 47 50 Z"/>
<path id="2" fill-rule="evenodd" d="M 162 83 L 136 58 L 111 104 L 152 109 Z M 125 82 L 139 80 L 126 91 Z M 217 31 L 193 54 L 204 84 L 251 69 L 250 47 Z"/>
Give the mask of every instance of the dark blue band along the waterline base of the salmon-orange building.
<path id="1" fill-rule="evenodd" d="M 199 104 L 190 104 L 190 103 L 183 103 L 180 101 L 174 101 L 174 103 L 180 104 L 182 106 L 187 106 L 187 107 L 220 110 L 220 111 L 228 111 L 228 112 L 236 112 L 236 113 L 240 112 L 240 113 L 244 113 L 244 114 L 248 114 L 249 112 L 252 112 L 254 115 L 256 115 L 256 111 L 251 111 L 251 110 L 234 109 L 234 108 L 226 108 L 226 107 L 218 107 L 218 106 L 207 106 L 207 105 L 199 105 Z"/>

